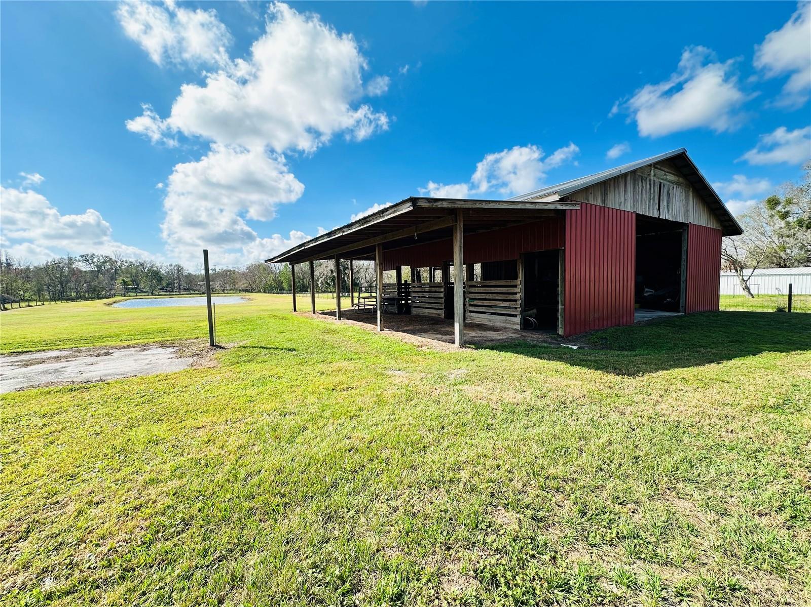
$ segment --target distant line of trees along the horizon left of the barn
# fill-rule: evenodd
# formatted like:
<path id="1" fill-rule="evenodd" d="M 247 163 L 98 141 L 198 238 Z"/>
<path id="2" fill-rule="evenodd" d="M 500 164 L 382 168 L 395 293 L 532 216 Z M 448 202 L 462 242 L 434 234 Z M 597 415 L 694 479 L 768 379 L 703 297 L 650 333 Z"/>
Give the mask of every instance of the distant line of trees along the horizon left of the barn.
<path id="1" fill-rule="evenodd" d="M 296 287 L 310 289 L 306 264 L 296 271 Z M 290 293 L 293 284 L 287 263 L 251 263 L 239 268 L 213 267 L 209 272 L 215 293 Z M 355 289 L 374 283 L 370 262 L 354 263 Z M 341 262 L 341 284 L 349 284 L 349 262 Z M 343 291 L 348 291 L 344 286 Z M 79 301 L 131 295 L 204 293 L 202 268 L 179 263 L 123 259 L 95 253 L 67 255 L 45 263 L 29 263 L 0 254 L 0 310 L 47 301 Z M 315 262 L 315 291 L 334 293 L 335 263 Z"/>

